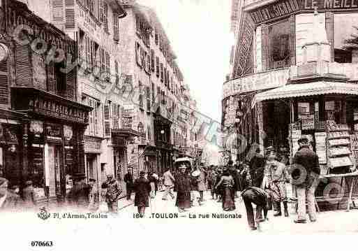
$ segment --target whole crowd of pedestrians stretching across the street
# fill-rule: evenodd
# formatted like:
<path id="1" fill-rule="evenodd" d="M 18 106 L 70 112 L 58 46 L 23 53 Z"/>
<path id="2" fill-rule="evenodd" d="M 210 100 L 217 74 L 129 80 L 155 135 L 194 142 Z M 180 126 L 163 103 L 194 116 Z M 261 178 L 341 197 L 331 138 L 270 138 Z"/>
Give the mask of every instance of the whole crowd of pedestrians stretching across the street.
<path id="1" fill-rule="evenodd" d="M 269 147 L 264 152 L 258 148 L 249 160 L 236 164 L 229 162 L 226 166 L 191 166 L 183 162 L 174 168 L 167 167 L 161 177 L 154 170 L 148 173 L 141 171 L 135 180 L 128 171 L 124 175 L 126 199 L 130 201 L 134 192 L 134 205 L 140 217 L 144 217 L 145 208 L 150 206 L 158 189 L 163 188 L 162 199 L 167 201 L 168 196 L 175 199 L 179 213 L 185 216 L 189 208 L 205 203 L 204 191 L 210 190 L 211 199 L 221 203 L 225 211 L 236 210 L 235 200 L 241 197 L 248 225 L 253 230 L 258 229 L 260 222 L 268 220 L 268 210 L 274 210 L 274 217 L 288 217 L 288 203 L 297 203 L 295 223 L 306 223 L 306 203 L 309 219 L 315 222 L 315 189 L 320 175 L 318 155 L 308 147 L 307 138 L 300 138 L 298 143 L 299 150 L 291 165 L 287 148 L 281 147 L 277 151 Z M 9 187 L 8 180 L 1 176 L 0 168 L 0 211 L 36 208 L 31 180 L 25 182 L 26 186 L 20 196 L 19 187 Z M 89 179 L 86 182 L 85 178 L 84 175 L 73 175 L 74 184 L 65 199 L 68 205 L 79 210 L 117 213 L 118 201 L 124 189 L 114 175 L 107 175 L 107 180 L 100 187 L 101 191 L 98 191 L 96 180 Z M 288 194 L 287 188 L 290 185 L 294 187 L 294 195 Z"/>

